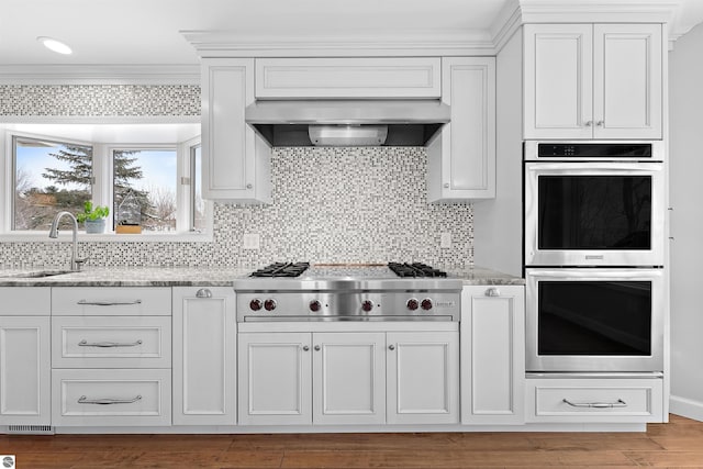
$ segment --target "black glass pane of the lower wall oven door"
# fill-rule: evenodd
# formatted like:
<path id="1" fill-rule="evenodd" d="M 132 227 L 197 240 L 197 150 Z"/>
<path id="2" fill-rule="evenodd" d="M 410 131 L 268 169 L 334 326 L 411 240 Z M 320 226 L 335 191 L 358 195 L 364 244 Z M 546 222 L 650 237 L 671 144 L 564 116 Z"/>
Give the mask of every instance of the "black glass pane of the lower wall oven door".
<path id="1" fill-rule="evenodd" d="M 538 355 L 651 355 L 651 282 L 540 281 Z"/>

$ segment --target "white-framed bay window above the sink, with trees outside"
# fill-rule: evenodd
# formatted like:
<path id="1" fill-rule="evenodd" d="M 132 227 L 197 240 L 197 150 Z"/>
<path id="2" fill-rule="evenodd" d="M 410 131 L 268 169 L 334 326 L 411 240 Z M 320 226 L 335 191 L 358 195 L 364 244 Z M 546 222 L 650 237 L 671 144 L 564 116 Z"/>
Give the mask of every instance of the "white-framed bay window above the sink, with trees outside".
<path id="1" fill-rule="evenodd" d="M 137 202 L 142 239 L 207 239 L 212 235 L 211 202 L 202 199 L 199 124 L 52 125 L 0 124 L 0 234 L 26 239 L 48 233 L 59 211 L 78 213 L 86 201 L 108 205 L 111 216 L 103 238 L 126 223 L 125 199 Z M 26 132 L 23 127 L 32 127 Z M 36 129 L 46 132 L 36 132 Z M 138 127 L 138 129 L 136 129 Z M 85 138 L 88 135 L 90 138 Z M 107 136 L 108 139 L 100 139 Z M 136 136 L 130 142 L 125 136 Z M 96 137 L 96 138 L 93 138 Z M 120 142 L 109 138 L 120 137 Z M 167 144 L 154 141 L 170 142 Z M 2 164 L 7 161 L 7 164 Z M 4 169 L 3 169 L 4 168 Z M 5 181 L 4 183 L 2 181 Z M 5 188 L 5 189 L 2 189 Z M 132 221 L 132 220 L 130 220 Z M 79 226 L 82 230 L 82 226 Z M 100 235 L 91 235 L 99 237 Z"/>

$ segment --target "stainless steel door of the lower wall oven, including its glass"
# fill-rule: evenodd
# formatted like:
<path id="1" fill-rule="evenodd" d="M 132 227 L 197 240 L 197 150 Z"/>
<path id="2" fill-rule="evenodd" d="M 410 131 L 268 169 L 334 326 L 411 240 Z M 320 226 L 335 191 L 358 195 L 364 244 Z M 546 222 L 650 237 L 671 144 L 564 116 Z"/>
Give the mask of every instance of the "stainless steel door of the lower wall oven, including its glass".
<path id="1" fill-rule="evenodd" d="M 527 269 L 527 371 L 662 371 L 662 269 Z"/>

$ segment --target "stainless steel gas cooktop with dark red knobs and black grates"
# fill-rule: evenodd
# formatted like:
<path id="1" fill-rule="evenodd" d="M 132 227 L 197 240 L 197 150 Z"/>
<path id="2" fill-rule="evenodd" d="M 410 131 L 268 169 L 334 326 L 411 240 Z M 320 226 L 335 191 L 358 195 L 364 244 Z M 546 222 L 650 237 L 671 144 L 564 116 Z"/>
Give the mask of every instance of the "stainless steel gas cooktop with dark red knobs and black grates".
<path id="1" fill-rule="evenodd" d="M 235 280 L 237 321 L 458 321 L 462 281 L 424 264 L 272 264 Z"/>

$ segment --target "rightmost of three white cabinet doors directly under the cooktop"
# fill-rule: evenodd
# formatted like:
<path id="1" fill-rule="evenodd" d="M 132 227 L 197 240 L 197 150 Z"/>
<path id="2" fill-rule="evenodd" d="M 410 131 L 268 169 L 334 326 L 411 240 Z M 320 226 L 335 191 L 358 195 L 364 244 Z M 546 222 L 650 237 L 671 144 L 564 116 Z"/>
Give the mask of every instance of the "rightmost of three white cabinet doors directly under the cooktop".
<path id="1" fill-rule="evenodd" d="M 459 334 L 388 333 L 389 424 L 459 421 Z"/>

